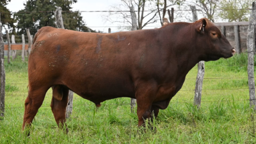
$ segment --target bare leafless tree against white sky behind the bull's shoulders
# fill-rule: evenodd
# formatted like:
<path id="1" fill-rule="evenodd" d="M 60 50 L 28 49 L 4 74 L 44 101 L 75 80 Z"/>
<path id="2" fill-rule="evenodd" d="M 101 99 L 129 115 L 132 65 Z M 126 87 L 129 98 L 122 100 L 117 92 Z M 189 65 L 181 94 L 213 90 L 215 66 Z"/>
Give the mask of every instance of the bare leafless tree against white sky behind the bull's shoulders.
<path id="1" fill-rule="evenodd" d="M 118 12 L 110 12 L 109 15 L 104 18 L 111 23 L 120 22 L 124 25 L 131 25 L 131 13 L 128 11 L 130 7 L 133 6 L 137 16 L 137 29 L 143 29 L 148 24 L 157 22 L 159 17 L 161 19 L 160 12 L 162 10 L 166 11 L 166 8 L 179 4 L 178 2 L 181 1 L 184 0 L 122 0 L 122 3 L 118 6 L 111 6 L 111 10 Z M 160 8 L 160 6 L 164 6 L 164 8 Z M 113 16 L 115 16 L 115 19 L 113 19 Z M 161 24 L 162 23 L 161 21 Z"/>

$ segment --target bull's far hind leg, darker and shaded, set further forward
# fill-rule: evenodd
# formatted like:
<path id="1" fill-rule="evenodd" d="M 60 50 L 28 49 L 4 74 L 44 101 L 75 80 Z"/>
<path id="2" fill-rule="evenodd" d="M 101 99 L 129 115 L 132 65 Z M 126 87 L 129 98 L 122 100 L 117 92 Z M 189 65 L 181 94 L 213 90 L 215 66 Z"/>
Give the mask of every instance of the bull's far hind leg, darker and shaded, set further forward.
<path id="1" fill-rule="evenodd" d="M 56 85 L 52 87 L 52 102 L 51 108 L 56 123 L 60 129 L 63 129 L 64 125 L 66 127 L 66 132 L 68 132 L 66 122 L 66 107 L 68 103 L 68 88 L 61 85 Z"/>

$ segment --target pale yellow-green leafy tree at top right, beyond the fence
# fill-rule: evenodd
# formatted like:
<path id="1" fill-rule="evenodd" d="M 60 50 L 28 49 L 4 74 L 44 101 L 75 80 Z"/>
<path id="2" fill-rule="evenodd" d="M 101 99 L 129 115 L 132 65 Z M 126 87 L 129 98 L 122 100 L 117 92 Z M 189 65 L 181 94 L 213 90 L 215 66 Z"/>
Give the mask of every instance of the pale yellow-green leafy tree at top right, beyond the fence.
<path id="1" fill-rule="evenodd" d="M 220 3 L 221 12 L 219 16 L 222 19 L 227 19 L 228 22 L 248 21 L 250 17 L 250 6 L 254 0 L 237 1 L 223 0 Z"/>

